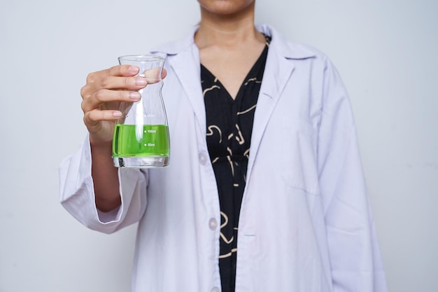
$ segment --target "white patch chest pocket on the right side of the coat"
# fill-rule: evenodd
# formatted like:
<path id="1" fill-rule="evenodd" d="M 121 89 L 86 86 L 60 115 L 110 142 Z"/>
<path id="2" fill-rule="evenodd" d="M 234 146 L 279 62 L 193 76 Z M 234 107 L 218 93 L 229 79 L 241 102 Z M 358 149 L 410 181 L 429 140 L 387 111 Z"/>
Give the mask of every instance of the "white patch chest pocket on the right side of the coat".
<path id="1" fill-rule="evenodd" d="M 283 180 L 292 188 L 319 195 L 316 129 L 305 120 L 285 120 L 282 130 Z"/>

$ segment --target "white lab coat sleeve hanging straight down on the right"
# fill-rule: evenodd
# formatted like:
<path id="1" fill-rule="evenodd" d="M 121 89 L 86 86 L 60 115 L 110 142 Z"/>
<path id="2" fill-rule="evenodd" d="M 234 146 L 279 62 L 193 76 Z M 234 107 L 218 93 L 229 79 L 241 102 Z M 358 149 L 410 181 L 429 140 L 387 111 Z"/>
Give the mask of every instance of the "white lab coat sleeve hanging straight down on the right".
<path id="1" fill-rule="evenodd" d="M 318 172 L 334 292 L 385 292 L 386 279 L 346 90 L 327 60 Z"/>

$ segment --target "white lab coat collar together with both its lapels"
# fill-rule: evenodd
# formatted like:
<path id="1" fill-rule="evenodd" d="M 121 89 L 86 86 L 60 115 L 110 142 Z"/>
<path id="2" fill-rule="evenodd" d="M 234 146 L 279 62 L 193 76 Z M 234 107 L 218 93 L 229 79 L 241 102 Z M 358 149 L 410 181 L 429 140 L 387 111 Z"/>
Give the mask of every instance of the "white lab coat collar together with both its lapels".
<path id="1" fill-rule="evenodd" d="M 198 28 L 195 27 L 193 32 L 185 37 L 185 39 L 160 46 L 153 53 L 166 53 L 167 57 L 171 60 L 171 67 L 176 72 L 176 76 L 178 76 L 181 85 L 187 93 L 192 109 L 195 112 L 199 130 L 205 136 L 206 115 L 200 80 L 199 50 L 195 45 L 193 37 Z M 290 76 L 292 76 L 295 63 L 317 55 L 316 50 L 286 41 L 281 34 L 268 25 L 260 25 L 257 29 L 263 34 L 271 36 L 271 43 L 269 44 L 267 64 L 264 69 L 263 82 L 257 100 L 257 109 L 255 110 L 247 181 L 250 179 L 264 130 L 271 118 L 278 98 L 281 96 L 281 92 L 283 92 Z M 194 76 L 198 76 L 199 79 L 194 78 Z"/>

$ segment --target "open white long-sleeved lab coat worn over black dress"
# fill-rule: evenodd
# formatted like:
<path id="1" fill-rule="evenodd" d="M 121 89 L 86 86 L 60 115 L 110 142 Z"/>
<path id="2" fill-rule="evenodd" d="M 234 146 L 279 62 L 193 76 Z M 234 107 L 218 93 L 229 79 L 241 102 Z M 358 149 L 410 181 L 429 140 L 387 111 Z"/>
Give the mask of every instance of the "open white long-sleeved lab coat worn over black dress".
<path id="1" fill-rule="evenodd" d="M 239 220 L 236 292 L 384 292 L 351 107 L 325 55 L 272 36 L 255 111 Z M 132 289 L 220 291 L 220 210 L 206 146 L 193 34 L 167 54 L 170 166 L 120 169 L 122 206 L 97 211 L 90 145 L 60 167 L 61 202 L 115 232 L 139 222 Z"/>

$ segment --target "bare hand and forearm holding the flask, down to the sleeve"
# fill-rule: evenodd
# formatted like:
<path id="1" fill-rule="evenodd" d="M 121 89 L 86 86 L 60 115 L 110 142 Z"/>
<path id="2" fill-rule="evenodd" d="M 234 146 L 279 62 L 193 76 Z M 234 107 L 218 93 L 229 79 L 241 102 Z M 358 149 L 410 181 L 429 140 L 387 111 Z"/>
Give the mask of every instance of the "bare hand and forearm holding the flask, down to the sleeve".
<path id="1" fill-rule="evenodd" d="M 84 123 L 90 132 L 95 202 L 101 211 L 111 211 L 121 204 L 118 171 L 111 158 L 115 120 L 122 115 L 120 102 L 139 101 L 141 95 L 137 90 L 160 81 L 157 74 L 147 78 L 136 76 L 138 73 L 139 67 L 132 65 L 97 71 L 87 76 L 87 84 L 80 90 Z M 166 75 L 163 70 L 161 77 Z"/>

